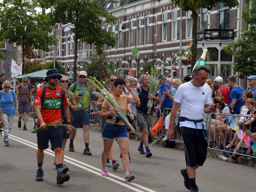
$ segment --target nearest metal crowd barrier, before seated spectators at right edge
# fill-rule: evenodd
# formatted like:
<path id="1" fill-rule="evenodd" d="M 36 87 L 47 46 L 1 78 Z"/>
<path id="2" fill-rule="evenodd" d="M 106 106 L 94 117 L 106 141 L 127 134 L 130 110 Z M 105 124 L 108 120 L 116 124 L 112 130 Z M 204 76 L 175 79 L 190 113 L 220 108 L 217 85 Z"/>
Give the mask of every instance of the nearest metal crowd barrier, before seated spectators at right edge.
<path id="1" fill-rule="evenodd" d="M 213 116 L 216 116 L 216 115 L 225 115 L 225 118 L 222 118 L 223 120 L 220 121 L 220 123 L 217 123 L 217 121 L 215 121 L 215 119 L 212 118 Z M 221 113 L 212 113 L 212 115 L 210 116 L 209 126 L 208 126 L 208 129 L 207 129 L 207 134 L 208 134 L 208 150 L 209 150 L 210 154 L 213 157 L 216 156 L 218 158 L 218 156 L 216 155 L 216 153 L 214 151 L 228 152 L 228 153 L 230 153 L 230 155 L 231 154 L 236 154 L 237 156 L 252 157 L 252 156 L 246 154 L 246 152 L 248 151 L 250 146 L 247 146 L 248 147 L 247 148 L 247 147 L 245 147 L 246 146 L 245 144 L 242 144 L 240 148 L 237 148 L 237 144 L 238 144 L 238 142 L 240 140 L 238 138 L 238 136 L 237 136 L 237 131 L 234 131 L 229 124 L 227 124 L 227 123 L 225 124 L 224 123 L 225 119 L 229 119 L 229 118 L 232 118 L 233 121 L 236 121 L 236 119 L 235 119 L 236 117 L 244 117 L 244 120 L 245 120 L 246 118 L 248 118 L 250 116 L 246 116 L 246 115 L 245 116 L 244 115 L 232 115 L 232 114 L 221 114 Z M 256 117 L 253 117 L 253 118 L 256 118 Z M 213 120 L 215 122 L 212 122 Z M 239 126 L 239 130 L 242 130 L 243 133 L 246 130 L 245 129 L 246 127 L 245 127 L 245 124 L 244 124 L 244 122 L 245 122 L 244 120 L 240 121 L 241 123 L 240 123 L 240 126 Z M 251 123 L 252 123 L 251 120 L 252 120 L 252 118 L 250 119 L 250 125 L 249 125 L 250 128 L 248 130 L 249 131 L 249 135 L 247 134 L 247 136 L 250 136 L 250 138 L 251 138 L 251 134 L 253 133 L 253 132 L 251 132 L 251 128 L 252 128 L 251 127 Z M 241 124 L 243 124 L 243 125 L 241 125 Z M 221 126 L 223 128 L 223 130 L 218 132 L 217 126 Z M 238 126 L 238 124 L 236 124 L 236 126 Z M 219 129 L 219 127 L 218 127 L 218 129 Z M 210 140 L 212 140 L 212 141 L 209 142 Z M 230 147 L 229 148 L 225 148 L 226 142 L 230 143 Z M 235 148 L 233 148 L 233 146 L 231 147 L 231 142 L 233 143 L 233 146 L 236 146 Z M 216 148 L 216 147 L 218 147 L 218 148 Z M 234 150 L 235 150 L 235 152 L 234 152 Z M 254 152 L 252 151 L 252 153 L 254 153 Z M 255 156 L 255 153 L 254 153 L 254 156 Z"/>

